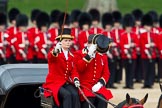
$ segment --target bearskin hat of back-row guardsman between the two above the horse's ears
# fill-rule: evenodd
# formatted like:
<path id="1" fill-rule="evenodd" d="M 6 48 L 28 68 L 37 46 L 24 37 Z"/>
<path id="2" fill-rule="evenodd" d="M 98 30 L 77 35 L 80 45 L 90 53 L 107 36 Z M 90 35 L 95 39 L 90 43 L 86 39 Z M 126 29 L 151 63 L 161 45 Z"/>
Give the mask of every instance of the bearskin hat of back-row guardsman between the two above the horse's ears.
<path id="1" fill-rule="evenodd" d="M 140 9 L 135 9 L 132 11 L 132 15 L 134 16 L 136 21 L 141 21 L 143 17 L 143 12 Z"/>

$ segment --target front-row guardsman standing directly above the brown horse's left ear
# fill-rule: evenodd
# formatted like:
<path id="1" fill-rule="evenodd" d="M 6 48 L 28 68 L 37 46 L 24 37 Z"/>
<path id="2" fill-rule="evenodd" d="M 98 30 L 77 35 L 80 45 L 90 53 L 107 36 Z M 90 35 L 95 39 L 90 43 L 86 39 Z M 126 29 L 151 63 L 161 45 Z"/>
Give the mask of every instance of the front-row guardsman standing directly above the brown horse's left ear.
<path id="1" fill-rule="evenodd" d="M 133 78 L 135 73 L 136 59 L 137 59 L 137 48 L 139 48 L 139 40 L 137 35 L 132 32 L 135 20 L 132 14 L 126 14 L 123 17 L 123 28 L 125 32 L 121 34 L 120 46 L 121 46 L 121 58 L 125 68 L 125 87 L 133 89 Z"/>

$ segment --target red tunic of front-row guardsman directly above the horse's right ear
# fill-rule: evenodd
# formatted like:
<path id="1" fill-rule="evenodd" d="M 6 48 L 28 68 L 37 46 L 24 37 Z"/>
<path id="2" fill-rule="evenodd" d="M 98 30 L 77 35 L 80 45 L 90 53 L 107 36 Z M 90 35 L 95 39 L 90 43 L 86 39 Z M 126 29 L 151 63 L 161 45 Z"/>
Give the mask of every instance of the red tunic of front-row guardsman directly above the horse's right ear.
<path id="1" fill-rule="evenodd" d="M 151 52 L 151 57 L 152 58 L 156 58 L 156 48 L 157 48 L 157 34 L 152 33 L 152 32 L 145 32 L 140 34 L 140 51 L 141 51 L 141 58 L 143 59 L 148 59 L 148 56 L 145 52 L 145 50 L 149 50 L 149 48 L 146 47 L 146 44 L 148 44 L 148 33 L 150 34 L 153 43 L 155 44 L 155 47 L 152 48 L 152 52 Z"/>

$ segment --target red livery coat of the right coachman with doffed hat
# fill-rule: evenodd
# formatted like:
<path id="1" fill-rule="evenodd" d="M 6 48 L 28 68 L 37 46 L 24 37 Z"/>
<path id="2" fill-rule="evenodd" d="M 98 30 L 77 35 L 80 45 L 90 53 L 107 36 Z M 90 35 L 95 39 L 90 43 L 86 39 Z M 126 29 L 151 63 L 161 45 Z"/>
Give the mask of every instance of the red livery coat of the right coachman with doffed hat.
<path id="1" fill-rule="evenodd" d="M 84 49 L 77 51 L 75 53 L 75 60 L 81 85 L 91 90 L 99 80 L 103 80 L 106 84 L 109 80 L 110 72 L 106 55 L 96 53 L 96 57 L 90 61 L 84 58 L 86 55 L 87 52 Z M 95 95 L 87 89 L 82 88 L 82 90 L 87 97 L 95 97 Z M 113 97 L 111 91 L 104 86 L 101 87 L 97 93 L 102 94 L 107 100 Z M 83 100 L 82 96 L 81 100 Z"/>

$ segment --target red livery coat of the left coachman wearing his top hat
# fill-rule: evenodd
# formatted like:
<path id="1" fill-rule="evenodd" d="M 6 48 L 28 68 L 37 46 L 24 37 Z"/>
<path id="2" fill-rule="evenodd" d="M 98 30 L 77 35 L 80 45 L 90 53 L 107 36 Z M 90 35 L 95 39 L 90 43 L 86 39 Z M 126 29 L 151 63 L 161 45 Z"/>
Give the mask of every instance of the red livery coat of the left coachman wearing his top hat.
<path id="1" fill-rule="evenodd" d="M 74 56 L 70 52 L 68 52 L 68 60 L 66 60 L 64 53 L 55 56 L 52 52 L 48 53 L 48 75 L 43 87 L 52 91 L 56 104 L 60 105 L 58 100 L 60 87 L 66 82 L 71 83 L 71 80 L 78 78 L 78 73 L 74 66 Z M 48 97 L 50 94 L 45 92 L 45 96 Z"/>

